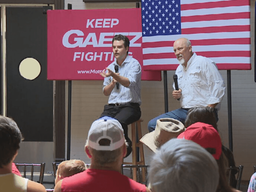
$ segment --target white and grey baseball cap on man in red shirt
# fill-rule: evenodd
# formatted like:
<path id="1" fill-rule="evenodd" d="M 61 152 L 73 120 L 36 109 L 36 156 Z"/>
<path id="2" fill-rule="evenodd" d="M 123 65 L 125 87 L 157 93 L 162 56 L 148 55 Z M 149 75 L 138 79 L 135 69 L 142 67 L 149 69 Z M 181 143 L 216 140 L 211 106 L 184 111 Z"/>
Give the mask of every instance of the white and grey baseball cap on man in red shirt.
<path id="1" fill-rule="evenodd" d="M 100 145 L 102 138 L 109 139 L 109 145 Z M 91 124 L 87 139 L 88 145 L 95 150 L 115 150 L 125 142 L 122 125 L 109 116 L 103 116 Z"/>

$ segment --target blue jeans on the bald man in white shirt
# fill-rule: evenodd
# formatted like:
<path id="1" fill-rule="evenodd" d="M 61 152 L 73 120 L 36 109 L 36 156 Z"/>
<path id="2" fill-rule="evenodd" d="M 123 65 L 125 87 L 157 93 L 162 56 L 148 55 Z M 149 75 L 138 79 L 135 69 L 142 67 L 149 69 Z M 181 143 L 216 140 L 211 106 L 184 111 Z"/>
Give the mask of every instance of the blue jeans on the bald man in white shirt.
<path id="1" fill-rule="evenodd" d="M 155 129 L 156 120 L 159 118 L 174 118 L 184 124 L 188 110 L 189 110 L 189 108 L 187 108 L 187 109 L 178 108 L 176 110 L 172 110 L 172 111 L 166 112 L 164 114 L 160 114 L 159 116 L 149 120 L 149 122 L 147 124 L 147 128 L 148 128 L 149 132 L 153 131 Z"/>

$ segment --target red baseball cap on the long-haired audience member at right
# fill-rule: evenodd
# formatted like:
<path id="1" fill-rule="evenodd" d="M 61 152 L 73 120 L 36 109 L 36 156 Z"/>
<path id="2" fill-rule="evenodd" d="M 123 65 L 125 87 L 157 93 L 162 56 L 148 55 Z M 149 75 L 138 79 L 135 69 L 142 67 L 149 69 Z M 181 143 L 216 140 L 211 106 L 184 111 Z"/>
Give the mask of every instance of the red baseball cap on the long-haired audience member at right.
<path id="1" fill-rule="evenodd" d="M 221 154 L 221 139 L 218 131 L 212 125 L 203 122 L 196 122 L 188 126 L 177 138 L 192 140 L 203 148 L 214 148 L 212 156 L 219 159 Z"/>

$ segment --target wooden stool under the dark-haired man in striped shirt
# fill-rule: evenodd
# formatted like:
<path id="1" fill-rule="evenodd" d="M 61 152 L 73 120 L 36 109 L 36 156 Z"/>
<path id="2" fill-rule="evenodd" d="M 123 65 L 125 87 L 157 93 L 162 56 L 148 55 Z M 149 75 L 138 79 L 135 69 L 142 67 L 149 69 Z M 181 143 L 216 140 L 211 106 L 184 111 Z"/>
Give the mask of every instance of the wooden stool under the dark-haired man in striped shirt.
<path id="1" fill-rule="evenodd" d="M 142 122 L 142 121 L 143 121 L 143 119 L 140 118 L 137 121 L 131 123 L 132 162 L 123 162 L 123 164 L 145 165 L 143 144 L 142 144 L 142 142 L 139 141 L 139 139 L 142 137 L 141 125 L 140 125 L 140 122 Z M 136 136 L 137 136 L 137 139 L 136 139 Z M 138 152 L 137 152 L 136 147 L 138 147 Z M 132 179 L 135 181 L 137 181 L 136 173 L 137 173 L 136 167 L 132 168 Z M 143 181 L 144 181 L 144 177 L 145 177 L 145 168 L 142 168 Z"/>

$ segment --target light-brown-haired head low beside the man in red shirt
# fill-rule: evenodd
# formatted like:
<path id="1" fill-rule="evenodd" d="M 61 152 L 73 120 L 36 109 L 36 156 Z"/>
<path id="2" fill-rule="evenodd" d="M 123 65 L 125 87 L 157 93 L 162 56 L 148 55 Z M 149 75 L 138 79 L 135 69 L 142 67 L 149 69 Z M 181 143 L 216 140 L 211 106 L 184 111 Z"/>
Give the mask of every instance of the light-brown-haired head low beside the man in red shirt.
<path id="1" fill-rule="evenodd" d="M 71 159 L 71 160 L 64 160 L 59 163 L 57 171 L 56 171 L 56 178 L 55 184 L 64 177 L 71 176 L 78 172 L 82 172 L 86 170 L 85 163 L 79 159 Z"/>

